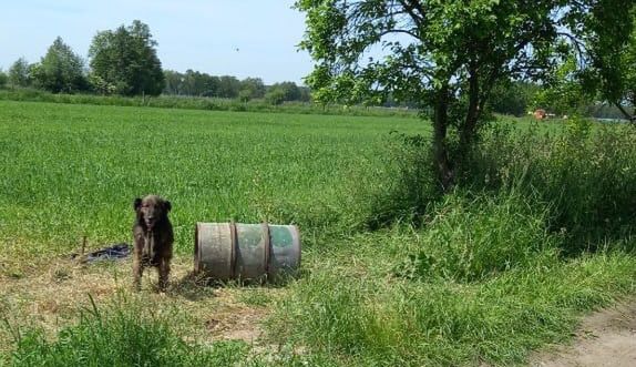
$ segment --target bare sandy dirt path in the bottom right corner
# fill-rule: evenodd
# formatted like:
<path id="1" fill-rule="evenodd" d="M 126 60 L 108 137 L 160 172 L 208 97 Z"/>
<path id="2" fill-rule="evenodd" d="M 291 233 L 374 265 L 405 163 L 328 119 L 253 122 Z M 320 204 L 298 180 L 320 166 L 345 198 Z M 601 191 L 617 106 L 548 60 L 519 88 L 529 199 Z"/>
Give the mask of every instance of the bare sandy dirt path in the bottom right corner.
<path id="1" fill-rule="evenodd" d="M 534 356 L 531 366 L 636 366 L 636 299 L 585 318 L 574 343 Z"/>

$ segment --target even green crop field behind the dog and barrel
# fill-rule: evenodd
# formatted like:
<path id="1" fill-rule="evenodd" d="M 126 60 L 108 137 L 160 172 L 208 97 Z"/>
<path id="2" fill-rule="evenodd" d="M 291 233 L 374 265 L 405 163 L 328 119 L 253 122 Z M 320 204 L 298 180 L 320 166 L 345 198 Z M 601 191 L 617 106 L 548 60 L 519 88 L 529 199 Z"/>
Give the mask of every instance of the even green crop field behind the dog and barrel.
<path id="1" fill-rule="evenodd" d="M 351 174 L 376 165 L 388 132 L 425 129 L 410 119 L 0 109 L 1 241 L 39 253 L 71 251 L 83 236 L 130 239 L 132 201 L 148 193 L 172 201 L 179 253 L 189 253 L 197 221 L 327 227 L 346 215 Z"/>

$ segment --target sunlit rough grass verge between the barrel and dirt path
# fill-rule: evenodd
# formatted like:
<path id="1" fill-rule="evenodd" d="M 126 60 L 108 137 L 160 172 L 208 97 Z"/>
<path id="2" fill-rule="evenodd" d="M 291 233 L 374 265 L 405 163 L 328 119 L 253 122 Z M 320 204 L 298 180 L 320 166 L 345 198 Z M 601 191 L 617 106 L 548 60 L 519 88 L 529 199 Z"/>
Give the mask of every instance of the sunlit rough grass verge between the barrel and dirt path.
<path id="1" fill-rule="evenodd" d="M 430 227 L 339 243 L 342 258 L 321 259 L 276 307 L 273 335 L 348 366 L 510 365 L 636 290 L 634 256 L 560 259 L 544 212 L 479 201 L 450 200 Z"/>

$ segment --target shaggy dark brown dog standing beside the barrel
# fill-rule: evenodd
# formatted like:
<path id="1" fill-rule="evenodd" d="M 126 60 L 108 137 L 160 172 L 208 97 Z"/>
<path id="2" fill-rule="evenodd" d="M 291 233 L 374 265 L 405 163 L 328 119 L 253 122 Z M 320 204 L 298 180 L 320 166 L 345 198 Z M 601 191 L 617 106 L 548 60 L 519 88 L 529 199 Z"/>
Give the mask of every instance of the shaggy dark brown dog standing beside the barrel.
<path id="1" fill-rule="evenodd" d="M 137 214 L 133 224 L 133 285 L 139 290 L 144 267 L 154 266 L 158 269 L 160 289 L 165 292 L 174 242 L 172 224 L 167 217 L 172 205 L 160 196 L 147 195 L 143 200 L 135 198 L 133 206 Z"/>

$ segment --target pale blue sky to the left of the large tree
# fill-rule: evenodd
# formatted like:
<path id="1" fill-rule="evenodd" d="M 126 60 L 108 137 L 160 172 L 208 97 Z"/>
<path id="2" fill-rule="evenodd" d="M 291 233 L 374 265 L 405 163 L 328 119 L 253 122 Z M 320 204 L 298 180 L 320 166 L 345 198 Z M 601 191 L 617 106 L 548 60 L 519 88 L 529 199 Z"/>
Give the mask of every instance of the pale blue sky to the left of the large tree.
<path id="1" fill-rule="evenodd" d="M 59 35 L 88 59 L 98 31 L 146 23 L 164 70 L 187 69 L 266 84 L 302 84 L 312 69 L 298 51 L 304 14 L 294 0 L 0 0 L 0 68 L 38 62 Z"/>

